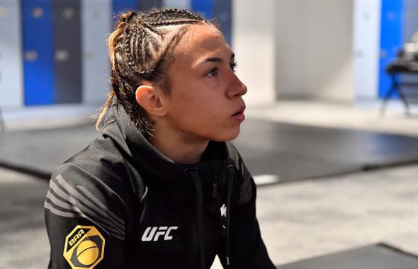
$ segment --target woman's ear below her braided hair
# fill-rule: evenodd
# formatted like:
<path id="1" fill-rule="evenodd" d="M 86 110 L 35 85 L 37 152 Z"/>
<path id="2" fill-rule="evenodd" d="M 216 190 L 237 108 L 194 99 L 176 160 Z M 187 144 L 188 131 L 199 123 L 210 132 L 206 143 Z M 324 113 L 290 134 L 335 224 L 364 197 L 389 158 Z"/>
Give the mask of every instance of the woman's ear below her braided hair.
<path id="1" fill-rule="evenodd" d="M 135 92 L 137 103 L 150 115 L 166 115 L 166 96 L 155 86 L 141 85 Z"/>

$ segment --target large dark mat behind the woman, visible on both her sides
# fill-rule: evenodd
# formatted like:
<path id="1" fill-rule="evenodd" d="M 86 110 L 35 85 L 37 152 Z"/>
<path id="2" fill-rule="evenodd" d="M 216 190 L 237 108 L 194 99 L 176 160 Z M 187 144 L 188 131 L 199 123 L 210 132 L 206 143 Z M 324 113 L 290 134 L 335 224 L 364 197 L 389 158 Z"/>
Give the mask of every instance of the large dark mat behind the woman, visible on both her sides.
<path id="1" fill-rule="evenodd" d="M 91 125 L 0 133 L 0 165 L 47 178 L 97 136 Z M 418 161 L 418 138 L 246 120 L 235 145 L 253 175 L 281 181 Z"/>

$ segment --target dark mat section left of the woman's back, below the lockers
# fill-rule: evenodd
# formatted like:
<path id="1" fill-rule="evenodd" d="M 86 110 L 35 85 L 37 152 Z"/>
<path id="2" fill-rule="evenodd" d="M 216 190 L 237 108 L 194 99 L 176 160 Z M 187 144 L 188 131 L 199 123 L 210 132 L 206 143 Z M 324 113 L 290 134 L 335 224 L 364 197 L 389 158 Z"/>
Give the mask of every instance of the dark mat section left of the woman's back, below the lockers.
<path id="1" fill-rule="evenodd" d="M 93 125 L 0 132 L 0 166 L 49 178 L 52 170 L 97 137 Z"/>

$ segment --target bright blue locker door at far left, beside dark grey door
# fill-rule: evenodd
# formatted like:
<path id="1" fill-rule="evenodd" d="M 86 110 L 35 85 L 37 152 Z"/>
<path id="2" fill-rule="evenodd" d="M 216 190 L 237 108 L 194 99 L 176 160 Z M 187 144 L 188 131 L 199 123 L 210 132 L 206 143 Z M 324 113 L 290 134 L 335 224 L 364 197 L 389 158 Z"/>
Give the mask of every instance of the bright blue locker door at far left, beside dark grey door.
<path id="1" fill-rule="evenodd" d="M 54 103 L 52 1 L 21 0 L 26 105 Z"/>

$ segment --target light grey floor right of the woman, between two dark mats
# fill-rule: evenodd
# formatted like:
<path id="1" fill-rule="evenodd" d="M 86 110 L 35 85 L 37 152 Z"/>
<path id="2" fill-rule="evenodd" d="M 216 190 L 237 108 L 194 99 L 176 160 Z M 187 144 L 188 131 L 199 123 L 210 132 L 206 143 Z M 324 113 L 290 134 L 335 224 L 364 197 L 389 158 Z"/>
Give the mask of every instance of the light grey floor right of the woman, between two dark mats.
<path id="1" fill-rule="evenodd" d="M 418 166 L 404 166 L 259 188 L 271 259 L 280 265 L 378 242 L 418 255 L 417 174 Z"/>

